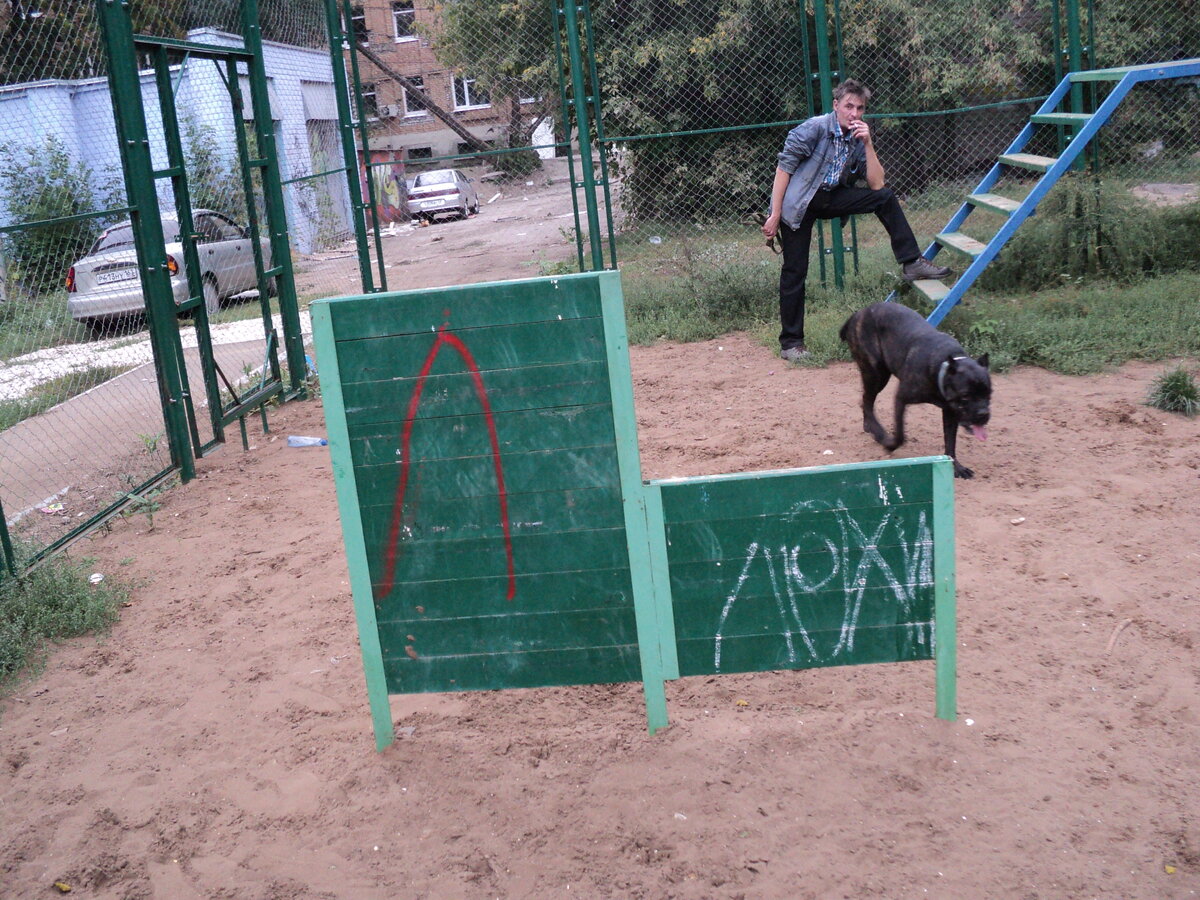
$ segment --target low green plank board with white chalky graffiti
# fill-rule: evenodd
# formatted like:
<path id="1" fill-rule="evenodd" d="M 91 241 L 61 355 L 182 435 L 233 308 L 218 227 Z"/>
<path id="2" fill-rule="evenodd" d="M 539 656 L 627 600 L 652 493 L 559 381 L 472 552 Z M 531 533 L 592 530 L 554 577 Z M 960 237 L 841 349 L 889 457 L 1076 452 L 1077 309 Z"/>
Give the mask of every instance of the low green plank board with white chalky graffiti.
<path id="1" fill-rule="evenodd" d="M 953 540 L 934 539 L 952 490 L 937 474 L 949 467 L 937 457 L 652 482 L 679 673 L 932 659 L 938 576 L 953 592 Z"/>

